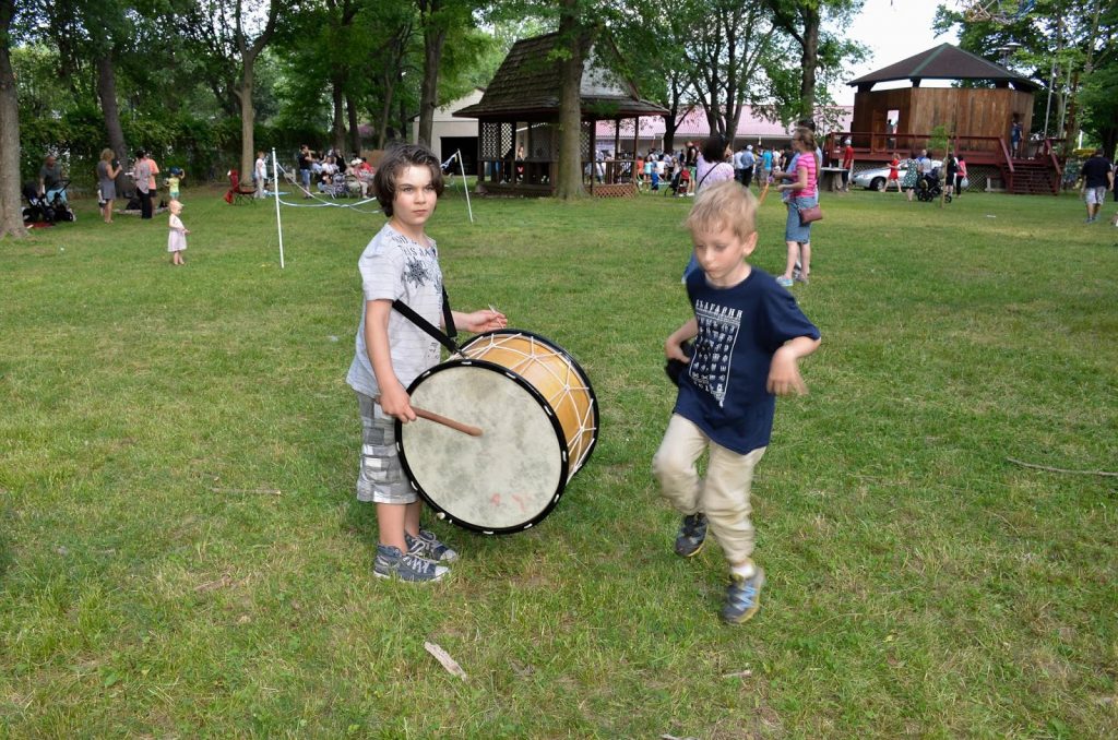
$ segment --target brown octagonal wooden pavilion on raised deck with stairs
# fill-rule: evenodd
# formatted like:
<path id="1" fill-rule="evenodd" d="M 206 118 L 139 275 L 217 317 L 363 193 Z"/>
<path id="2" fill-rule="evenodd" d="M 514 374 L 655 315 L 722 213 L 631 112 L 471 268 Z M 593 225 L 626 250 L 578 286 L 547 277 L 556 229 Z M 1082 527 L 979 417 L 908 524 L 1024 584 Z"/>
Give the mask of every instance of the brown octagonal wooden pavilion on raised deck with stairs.
<path id="1" fill-rule="evenodd" d="M 879 83 L 909 80 L 910 87 L 874 89 Z M 928 79 L 966 80 L 983 86 L 921 87 Z M 856 87 L 854 118 L 849 132 L 828 134 L 832 158 L 851 139 L 855 161 L 874 167 L 888 162 L 892 152 L 903 158 L 928 145 L 939 125 L 950 132 L 954 152 L 966 158 L 968 169 L 999 179 L 1010 192 L 1059 192 L 1060 162 L 1051 140 L 1030 142 L 1033 93 L 1030 79 L 950 44 L 941 44 L 864 77 Z M 1024 132 L 1022 150 L 1010 150 L 1013 121 Z M 983 183 L 972 177 L 972 188 Z"/>

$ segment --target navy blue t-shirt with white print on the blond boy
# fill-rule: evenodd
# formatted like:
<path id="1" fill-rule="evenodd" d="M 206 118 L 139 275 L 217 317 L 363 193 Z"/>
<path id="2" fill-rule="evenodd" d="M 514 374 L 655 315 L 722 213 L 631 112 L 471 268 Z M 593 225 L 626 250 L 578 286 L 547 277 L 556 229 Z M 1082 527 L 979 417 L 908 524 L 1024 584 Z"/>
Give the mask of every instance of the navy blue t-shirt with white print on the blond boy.
<path id="1" fill-rule="evenodd" d="M 796 336 L 819 338 L 792 293 L 752 267 L 733 287 L 714 287 L 707 275 L 688 276 L 699 322 L 695 351 L 680 376 L 675 414 L 712 440 L 746 455 L 769 443 L 776 396 L 768 392 L 773 355 Z"/>

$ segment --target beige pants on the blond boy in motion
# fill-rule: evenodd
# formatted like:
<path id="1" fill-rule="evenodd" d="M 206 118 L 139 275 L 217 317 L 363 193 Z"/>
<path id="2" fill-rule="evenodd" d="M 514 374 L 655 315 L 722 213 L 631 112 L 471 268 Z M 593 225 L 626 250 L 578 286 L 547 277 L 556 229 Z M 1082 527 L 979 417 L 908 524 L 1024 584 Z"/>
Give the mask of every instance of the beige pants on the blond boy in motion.
<path id="1" fill-rule="evenodd" d="M 695 462 L 708 448 L 707 477 L 700 481 Z M 731 565 L 747 562 L 754 552 L 749 488 L 754 466 L 765 449 L 758 447 L 740 455 L 711 442 L 694 424 L 673 414 L 664 440 L 652 458 L 652 471 L 664 497 L 681 514 L 707 514 L 710 530 Z"/>

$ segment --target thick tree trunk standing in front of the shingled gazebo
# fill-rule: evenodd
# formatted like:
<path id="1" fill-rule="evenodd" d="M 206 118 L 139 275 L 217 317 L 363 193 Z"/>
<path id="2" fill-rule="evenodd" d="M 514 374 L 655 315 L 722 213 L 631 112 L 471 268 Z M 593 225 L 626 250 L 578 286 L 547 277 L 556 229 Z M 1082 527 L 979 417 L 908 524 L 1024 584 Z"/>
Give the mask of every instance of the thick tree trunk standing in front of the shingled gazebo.
<path id="1" fill-rule="evenodd" d="M 574 200 L 585 195 L 581 87 L 582 66 L 590 35 L 576 13 L 577 0 L 562 0 L 559 38 L 567 47 L 568 56 L 561 61 L 559 87 L 559 171 L 556 177 L 556 197 L 560 200 Z"/>

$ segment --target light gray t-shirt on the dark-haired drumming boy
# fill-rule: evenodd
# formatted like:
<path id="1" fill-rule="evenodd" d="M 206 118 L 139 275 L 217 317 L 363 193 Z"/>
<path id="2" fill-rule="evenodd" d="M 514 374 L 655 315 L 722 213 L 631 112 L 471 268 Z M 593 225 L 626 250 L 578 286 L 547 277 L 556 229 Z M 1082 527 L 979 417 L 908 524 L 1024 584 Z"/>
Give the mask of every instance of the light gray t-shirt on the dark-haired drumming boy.
<path id="1" fill-rule="evenodd" d="M 388 224 L 377 233 L 361 253 L 361 322 L 357 329 L 353 362 L 345 376 L 354 390 L 378 396 L 377 376 L 364 343 L 364 302 L 400 300 L 420 316 L 438 326 L 443 316 L 443 272 L 438 267 L 438 249 L 416 244 Z M 396 378 L 407 388 L 419 373 L 439 360 L 442 345 L 429 334 L 405 319 L 398 311 L 388 317 L 388 348 Z"/>

